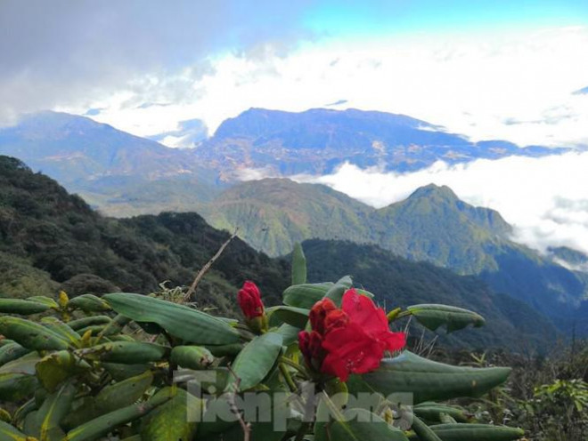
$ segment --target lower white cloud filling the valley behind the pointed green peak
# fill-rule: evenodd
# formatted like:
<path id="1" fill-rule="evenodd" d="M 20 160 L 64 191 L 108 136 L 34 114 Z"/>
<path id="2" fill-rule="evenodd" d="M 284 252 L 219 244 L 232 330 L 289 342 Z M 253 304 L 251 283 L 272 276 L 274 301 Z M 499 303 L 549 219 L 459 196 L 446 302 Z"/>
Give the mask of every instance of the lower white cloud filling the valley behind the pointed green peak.
<path id="1" fill-rule="evenodd" d="M 567 245 L 588 253 L 588 152 L 530 158 L 510 156 L 469 164 L 442 162 L 412 173 L 339 171 L 299 181 L 326 184 L 376 207 L 409 196 L 414 189 L 447 185 L 462 200 L 493 208 L 515 227 L 515 240 L 544 251 Z"/>

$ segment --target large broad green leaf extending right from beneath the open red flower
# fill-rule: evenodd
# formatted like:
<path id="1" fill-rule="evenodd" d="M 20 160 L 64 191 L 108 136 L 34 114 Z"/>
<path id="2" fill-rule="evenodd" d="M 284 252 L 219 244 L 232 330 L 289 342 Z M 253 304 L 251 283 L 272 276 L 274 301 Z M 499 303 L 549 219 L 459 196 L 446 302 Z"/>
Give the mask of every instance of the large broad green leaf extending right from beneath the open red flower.
<path id="1" fill-rule="evenodd" d="M 411 394 L 412 403 L 456 397 L 479 397 L 506 381 L 508 367 L 461 367 L 445 365 L 419 357 L 409 351 L 385 358 L 380 367 L 363 374 L 363 382 L 388 397 Z"/>

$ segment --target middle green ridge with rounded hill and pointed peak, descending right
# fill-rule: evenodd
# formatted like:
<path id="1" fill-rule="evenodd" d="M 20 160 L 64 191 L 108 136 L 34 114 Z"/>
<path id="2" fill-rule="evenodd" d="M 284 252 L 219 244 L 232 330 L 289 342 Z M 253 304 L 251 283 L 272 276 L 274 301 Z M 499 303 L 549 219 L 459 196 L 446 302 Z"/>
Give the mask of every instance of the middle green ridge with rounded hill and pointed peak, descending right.
<path id="1" fill-rule="evenodd" d="M 321 185 L 257 180 L 226 190 L 203 213 L 270 255 L 288 253 L 303 239 L 347 239 L 478 275 L 561 324 L 588 286 L 584 273 L 512 242 L 498 212 L 466 204 L 445 186 L 418 188 L 404 201 L 374 209 Z"/>

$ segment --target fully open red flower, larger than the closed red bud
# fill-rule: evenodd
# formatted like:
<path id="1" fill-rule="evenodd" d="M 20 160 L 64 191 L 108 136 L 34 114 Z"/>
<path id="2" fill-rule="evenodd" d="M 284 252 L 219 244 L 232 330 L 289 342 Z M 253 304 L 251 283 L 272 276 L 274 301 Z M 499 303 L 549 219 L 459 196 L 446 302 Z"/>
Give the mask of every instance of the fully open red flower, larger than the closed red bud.
<path id="1" fill-rule="evenodd" d="M 354 289 L 343 295 L 342 309 L 332 301 L 318 301 L 310 312 L 312 333 L 298 334 L 306 363 L 347 381 L 349 373 L 378 368 L 385 350 L 403 349 L 404 333 L 392 333 L 383 309 Z"/>

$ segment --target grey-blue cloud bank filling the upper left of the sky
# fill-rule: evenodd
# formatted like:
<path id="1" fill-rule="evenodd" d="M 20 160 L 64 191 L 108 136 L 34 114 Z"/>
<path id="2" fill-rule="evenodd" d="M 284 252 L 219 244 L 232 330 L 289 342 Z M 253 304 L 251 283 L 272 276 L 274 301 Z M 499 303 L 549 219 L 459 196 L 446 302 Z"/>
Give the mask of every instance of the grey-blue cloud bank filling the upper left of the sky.
<path id="1" fill-rule="evenodd" d="M 208 57 L 258 59 L 306 35 L 306 0 L 3 0 L 0 2 L 0 123 L 45 108 L 105 100 L 139 107 L 199 97 Z M 271 20 L 267 20 L 271 17 Z M 180 117 L 179 120 L 193 116 Z M 115 124 L 116 125 L 116 124 Z"/>

